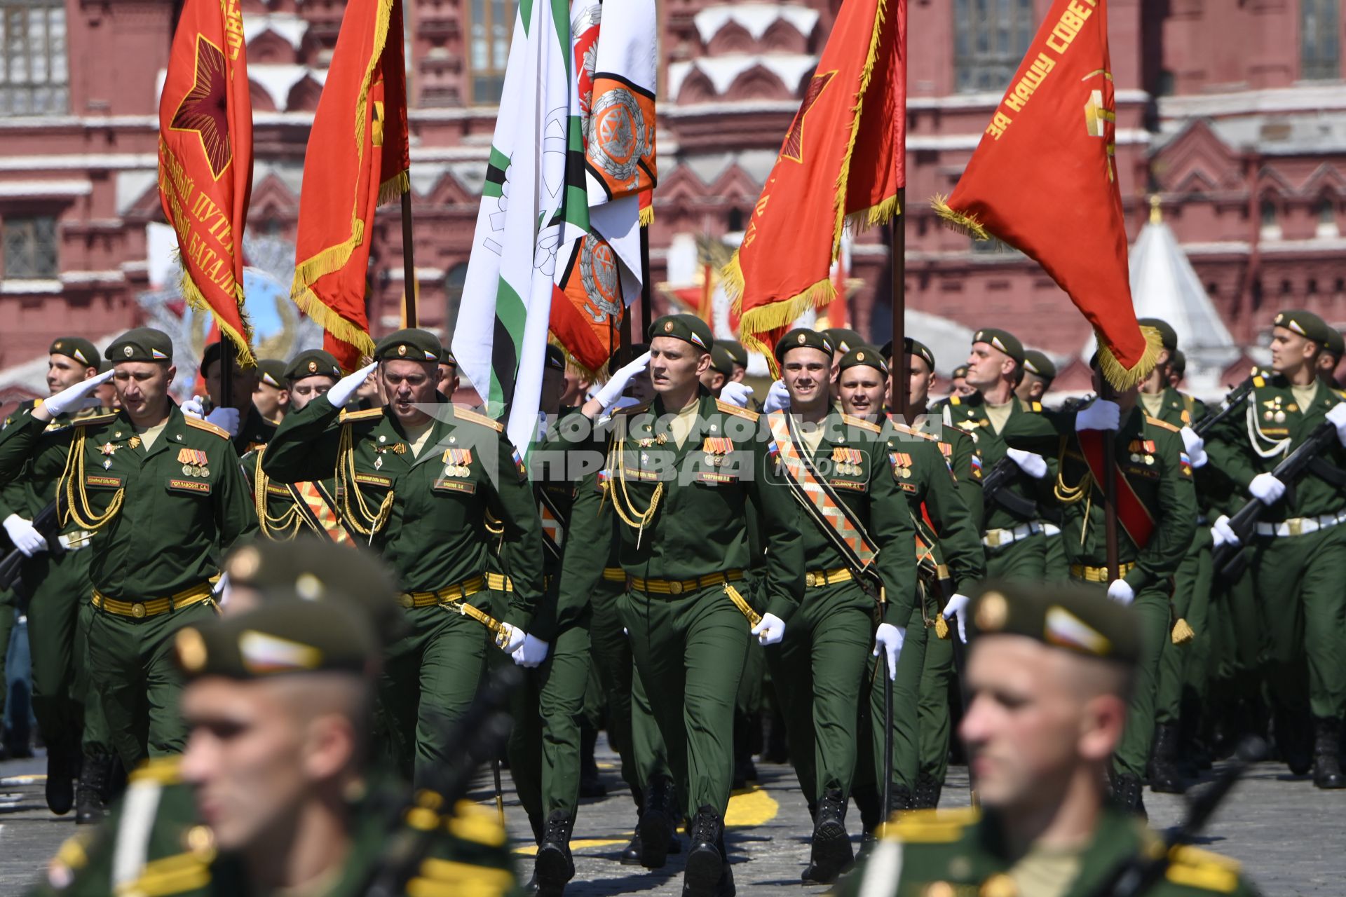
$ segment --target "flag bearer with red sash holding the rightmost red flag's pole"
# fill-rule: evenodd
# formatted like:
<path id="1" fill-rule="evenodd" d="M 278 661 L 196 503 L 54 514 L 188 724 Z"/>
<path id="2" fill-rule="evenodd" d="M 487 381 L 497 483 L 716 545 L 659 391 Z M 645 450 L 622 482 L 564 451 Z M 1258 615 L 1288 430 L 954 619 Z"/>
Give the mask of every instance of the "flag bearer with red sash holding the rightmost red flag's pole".
<path id="1" fill-rule="evenodd" d="M 1090 367 L 1094 390 L 1102 394 L 1097 354 Z M 1011 446 L 1057 452 L 1055 492 L 1063 506 L 1070 578 L 1093 584 L 1137 611 L 1143 651 L 1113 763 L 1113 789 L 1123 807 L 1143 815 L 1141 777 L 1154 736 L 1159 655 L 1172 625 L 1172 577 L 1197 529 L 1197 494 L 1179 428 L 1145 414 L 1137 397 L 1139 390 L 1131 387 L 1119 391 L 1116 401 L 1096 399 L 1078 412 L 1020 414 L 1003 436 Z M 1104 468 L 1108 430 L 1113 430 L 1112 471 Z M 1114 477 L 1117 487 L 1116 580 L 1108 569 L 1105 476 Z"/>

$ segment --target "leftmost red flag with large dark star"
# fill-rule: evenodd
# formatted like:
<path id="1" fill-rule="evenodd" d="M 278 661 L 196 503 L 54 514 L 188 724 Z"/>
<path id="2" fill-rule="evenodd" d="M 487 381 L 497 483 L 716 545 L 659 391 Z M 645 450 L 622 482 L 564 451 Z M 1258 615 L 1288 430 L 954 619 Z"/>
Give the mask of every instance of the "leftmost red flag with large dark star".
<path id="1" fill-rule="evenodd" d="M 182 295 L 256 364 L 244 313 L 252 100 L 237 0 L 187 0 L 159 97 L 159 200 L 178 234 Z"/>

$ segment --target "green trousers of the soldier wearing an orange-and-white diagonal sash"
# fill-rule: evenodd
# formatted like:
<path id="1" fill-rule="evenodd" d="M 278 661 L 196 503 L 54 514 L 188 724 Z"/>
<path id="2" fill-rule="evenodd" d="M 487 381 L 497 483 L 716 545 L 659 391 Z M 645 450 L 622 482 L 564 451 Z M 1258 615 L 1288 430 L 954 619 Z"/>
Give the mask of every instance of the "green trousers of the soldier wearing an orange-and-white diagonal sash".
<path id="1" fill-rule="evenodd" d="M 829 788 L 849 799 L 872 646 L 874 598 L 852 581 L 808 589 L 785 639 L 766 650 L 800 789 L 810 803 Z"/>

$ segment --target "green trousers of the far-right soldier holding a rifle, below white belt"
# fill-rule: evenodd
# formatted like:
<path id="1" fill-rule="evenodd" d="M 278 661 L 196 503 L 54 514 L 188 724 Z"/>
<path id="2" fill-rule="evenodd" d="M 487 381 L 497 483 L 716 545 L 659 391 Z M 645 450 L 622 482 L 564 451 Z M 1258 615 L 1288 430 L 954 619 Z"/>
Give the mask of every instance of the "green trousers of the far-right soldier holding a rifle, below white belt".
<path id="1" fill-rule="evenodd" d="M 1253 588 L 1269 639 L 1272 699 L 1319 718 L 1346 711 L 1346 526 L 1257 537 Z"/>

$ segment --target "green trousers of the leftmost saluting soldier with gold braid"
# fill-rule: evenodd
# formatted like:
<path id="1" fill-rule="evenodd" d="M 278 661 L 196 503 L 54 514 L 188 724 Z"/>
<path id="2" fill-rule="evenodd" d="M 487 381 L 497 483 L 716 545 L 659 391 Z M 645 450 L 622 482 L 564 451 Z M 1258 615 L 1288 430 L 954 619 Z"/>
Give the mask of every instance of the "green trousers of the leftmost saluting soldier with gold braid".
<path id="1" fill-rule="evenodd" d="M 182 672 L 174 636 L 218 615 L 211 600 L 149 617 L 124 617 L 94 609 L 89 623 L 89 674 L 112 745 L 127 769 L 153 756 L 182 753 L 187 726 L 178 710 Z"/>

